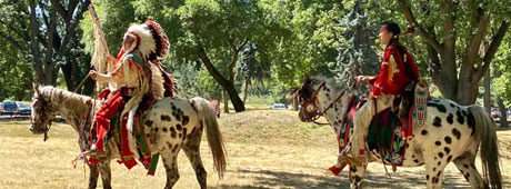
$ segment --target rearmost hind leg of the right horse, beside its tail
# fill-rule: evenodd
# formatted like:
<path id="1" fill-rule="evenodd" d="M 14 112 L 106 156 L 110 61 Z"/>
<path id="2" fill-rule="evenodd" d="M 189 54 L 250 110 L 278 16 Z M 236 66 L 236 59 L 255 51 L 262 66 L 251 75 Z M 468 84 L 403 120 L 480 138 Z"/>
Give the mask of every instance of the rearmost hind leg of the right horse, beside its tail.
<path id="1" fill-rule="evenodd" d="M 478 169 L 475 169 L 474 160 L 475 155 L 465 152 L 463 156 L 454 159 L 454 163 L 472 188 L 484 188 L 484 181 L 478 172 Z"/>

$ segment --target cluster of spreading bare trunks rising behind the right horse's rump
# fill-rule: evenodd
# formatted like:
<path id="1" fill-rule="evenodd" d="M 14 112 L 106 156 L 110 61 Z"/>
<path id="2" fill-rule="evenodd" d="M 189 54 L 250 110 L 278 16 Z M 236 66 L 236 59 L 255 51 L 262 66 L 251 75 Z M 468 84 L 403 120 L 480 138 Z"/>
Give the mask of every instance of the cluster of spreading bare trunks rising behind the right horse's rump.
<path id="1" fill-rule="evenodd" d="M 503 37 L 505 36 L 509 21 L 503 20 L 499 29 L 491 36 L 491 42 L 484 52 L 480 52 L 481 42 L 487 39 L 489 30 L 489 13 L 480 8 L 477 3 L 471 4 L 470 36 L 463 50 L 457 49 L 458 33 L 454 29 L 457 22 L 455 9 L 457 3 L 453 1 L 441 1 L 440 8 L 443 14 L 442 28 L 443 39 L 439 41 L 434 26 L 424 28 L 418 22 L 412 12 L 412 6 L 409 0 L 398 0 L 404 18 L 410 26 L 415 28 L 417 33 L 424 40 L 428 46 L 430 57 L 429 66 L 433 82 L 439 87 L 444 98 L 452 99 L 460 105 L 472 105 L 475 102 L 479 90 L 479 81 L 488 70 Z M 459 21 L 459 20 L 458 20 Z M 472 32 L 473 30 L 478 32 Z M 457 54 L 463 54 L 460 62 L 457 62 Z M 482 57 L 482 59 L 481 59 Z"/>

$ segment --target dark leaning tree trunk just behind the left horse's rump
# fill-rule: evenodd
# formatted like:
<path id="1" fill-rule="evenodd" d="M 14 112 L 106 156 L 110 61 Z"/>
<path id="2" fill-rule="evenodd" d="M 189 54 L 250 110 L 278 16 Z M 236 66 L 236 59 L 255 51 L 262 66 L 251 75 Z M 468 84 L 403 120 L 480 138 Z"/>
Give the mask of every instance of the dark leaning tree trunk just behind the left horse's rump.
<path id="1" fill-rule="evenodd" d="M 209 59 L 206 50 L 202 47 L 198 47 L 198 56 L 204 63 L 208 72 L 213 77 L 213 79 L 228 92 L 229 98 L 231 99 L 234 111 L 240 112 L 244 111 L 244 103 L 241 100 L 238 91 L 234 88 L 234 80 L 226 79 L 218 70 L 214 68 L 213 63 Z"/>

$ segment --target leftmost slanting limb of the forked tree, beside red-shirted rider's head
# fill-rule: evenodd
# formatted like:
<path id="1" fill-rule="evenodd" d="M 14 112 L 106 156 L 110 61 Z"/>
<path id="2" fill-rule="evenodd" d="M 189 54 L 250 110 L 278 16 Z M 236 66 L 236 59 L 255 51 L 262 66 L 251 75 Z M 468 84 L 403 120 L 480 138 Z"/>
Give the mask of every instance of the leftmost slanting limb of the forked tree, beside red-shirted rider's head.
<path id="1" fill-rule="evenodd" d="M 410 3 L 408 0 L 398 0 L 401 9 L 403 10 L 404 18 L 414 28 L 417 28 L 418 33 L 425 40 L 427 43 L 432 46 L 437 52 L 442 52 L 442 47 L 440 46 L 440 42 L 437 40 L 437 38 L 429 33 L 415 19 L 413 16 L 413 12 L 410 8 Z"/>

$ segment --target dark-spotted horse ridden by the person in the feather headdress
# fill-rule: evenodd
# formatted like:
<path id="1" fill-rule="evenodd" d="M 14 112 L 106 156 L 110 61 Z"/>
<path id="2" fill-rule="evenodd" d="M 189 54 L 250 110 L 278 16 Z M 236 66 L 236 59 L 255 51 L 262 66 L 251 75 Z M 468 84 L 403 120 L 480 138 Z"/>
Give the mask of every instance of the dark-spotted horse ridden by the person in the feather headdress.
<path id="1" fill-rule="evenodd" d="M 94 100 L 87 96 L 53 87 L 36 87 L 30 130 L 33 133 L 47 133 L 51 120 L 60 113 L 78 131 L 80 149 L 84 151 L 90 147 L 88 135 L 93 105 Z M 227 162 L 222 135 L 216 112 L 206 99 L 164 98 L 142 116 L 142 123 L 144 135 L 151 140 L 149 148 L 153 153 L 160 153 L 163 159 L 167 170 L 166 188 L 172 188 L 179 179 L 177 158 L 181 149 L 190 160 L 200 187 L 207 188 L 207 172 L 199 149 L 204 127 L 214 169 L 220 178 L 223 177 Z M 103 188 L 111 188 L 110 160 L 119 158 L 119 150 L 113 140 L 107 145 L 107 160 L 98 167 L 90 166 L 89 188 L 96 188 L 99 173 Z"/>

